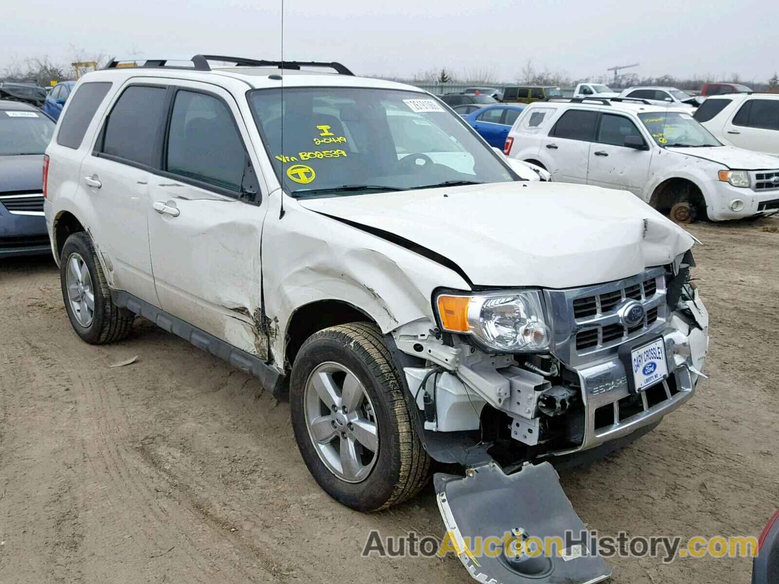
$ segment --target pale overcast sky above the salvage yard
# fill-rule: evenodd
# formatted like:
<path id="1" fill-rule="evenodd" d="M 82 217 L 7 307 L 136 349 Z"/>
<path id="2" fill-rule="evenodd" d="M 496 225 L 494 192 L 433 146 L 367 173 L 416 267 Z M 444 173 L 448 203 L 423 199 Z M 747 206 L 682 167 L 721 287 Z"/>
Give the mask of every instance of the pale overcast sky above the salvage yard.
<path id="1" fill-rule="evenodd" d="M 0 69 L 49 55 L 218 53 L 280 58 L 281 2 L 9 2 Z M 285 0 L 284 58 L 340 61 L 361 75 L 411 77 L 446 67 L 497 80 L 535 69 L 600 76 L 710 73 L 764 81 L 779 69 L 779 2 L 624 0 Z"/>

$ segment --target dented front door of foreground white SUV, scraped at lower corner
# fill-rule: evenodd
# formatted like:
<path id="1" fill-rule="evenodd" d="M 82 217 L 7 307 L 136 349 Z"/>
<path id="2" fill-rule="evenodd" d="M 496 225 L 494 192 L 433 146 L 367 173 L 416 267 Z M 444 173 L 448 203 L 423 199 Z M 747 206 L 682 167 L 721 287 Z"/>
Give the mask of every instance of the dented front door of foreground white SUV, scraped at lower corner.
<path id="1" fill-rule="evenodd" d="M 171 81 L 166 116 L 146 204 L 160 307 L 267 357 L 259 249 L 267 206 L 238 104 L 222 88 Z"/>

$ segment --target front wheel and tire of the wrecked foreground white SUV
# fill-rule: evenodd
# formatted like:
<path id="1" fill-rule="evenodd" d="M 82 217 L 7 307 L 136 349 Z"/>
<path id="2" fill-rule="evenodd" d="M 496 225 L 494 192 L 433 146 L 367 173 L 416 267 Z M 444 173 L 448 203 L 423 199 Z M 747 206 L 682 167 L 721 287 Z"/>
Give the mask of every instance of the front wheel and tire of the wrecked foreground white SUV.
<path id="1" fill-rule="evenodd" d="M 316 332 L 292 368 L 295 439 L 319 486 L 358 511 L 413 497 L 428 480 L 404 387 L 379 329 L 353 322 Z"/>

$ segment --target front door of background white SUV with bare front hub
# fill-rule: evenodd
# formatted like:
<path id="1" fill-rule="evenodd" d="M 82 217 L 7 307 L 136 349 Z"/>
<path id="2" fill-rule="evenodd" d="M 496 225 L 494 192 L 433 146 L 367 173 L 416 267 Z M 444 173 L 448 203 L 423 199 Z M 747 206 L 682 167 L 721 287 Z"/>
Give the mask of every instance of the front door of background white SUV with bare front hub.
<path id="1" fill-rule="evenodd" d="M 601 113 L 595 141 L 590 147 L 587 184 L 619 188 L 642 195 L 647 183 L 652 151 L 625 146 L 628 136 L 638 136 L 646 146 L 649 137 L 643 135 L 633 121 L 619 114 Z"/>

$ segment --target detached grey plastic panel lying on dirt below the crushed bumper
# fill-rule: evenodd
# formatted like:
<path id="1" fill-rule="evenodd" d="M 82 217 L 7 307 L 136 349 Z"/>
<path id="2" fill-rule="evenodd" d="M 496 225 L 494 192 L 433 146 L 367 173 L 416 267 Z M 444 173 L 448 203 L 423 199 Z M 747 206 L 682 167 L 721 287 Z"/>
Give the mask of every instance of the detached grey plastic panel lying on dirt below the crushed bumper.
<path id="1" fill-rule="evenodd" d="M 506 475 L 490 462 L 466 477 L 436 473 L 434 483 L 448 539 L 478 582 L 594 584 L 611 575 L 592 553 L 587 528 L 551 464 Z"/>

